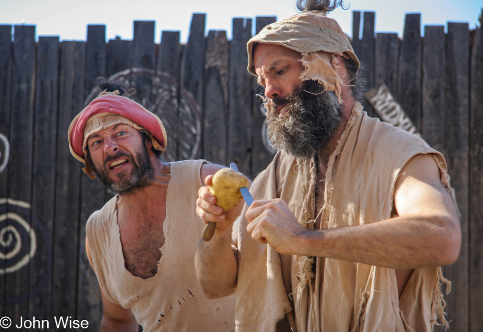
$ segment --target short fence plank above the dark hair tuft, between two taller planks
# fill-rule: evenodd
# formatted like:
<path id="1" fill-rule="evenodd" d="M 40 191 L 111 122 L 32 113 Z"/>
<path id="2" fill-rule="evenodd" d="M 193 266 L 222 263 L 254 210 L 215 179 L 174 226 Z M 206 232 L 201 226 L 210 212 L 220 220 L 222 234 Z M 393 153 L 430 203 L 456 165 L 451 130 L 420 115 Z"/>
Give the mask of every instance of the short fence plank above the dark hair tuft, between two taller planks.
<path id="1" fill-rule="evenodd" d="M 133 41 L 118 37 L 107 43 L 107 76 L 131 68 L 133 63 Z"/>

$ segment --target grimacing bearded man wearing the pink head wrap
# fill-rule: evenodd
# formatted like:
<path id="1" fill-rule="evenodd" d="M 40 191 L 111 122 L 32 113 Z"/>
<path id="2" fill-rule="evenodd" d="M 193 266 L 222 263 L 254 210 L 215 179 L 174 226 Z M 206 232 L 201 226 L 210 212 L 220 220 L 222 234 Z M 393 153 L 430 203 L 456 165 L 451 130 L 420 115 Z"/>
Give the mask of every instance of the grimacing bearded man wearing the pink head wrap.
<path id="1" fill-rule="evenodd" d="M 101 288 L 101 331 L 231 331 L 234 296 L 202 295 L 193 257 L 202 231 L 193 224 L 202 181 L 221 166 L 164 163 L 166 132 L 156 114 L 104 92 L 72 121 L 72 155 L 91 178 L 117 193 L 86 224 L 85 248 Z"/>

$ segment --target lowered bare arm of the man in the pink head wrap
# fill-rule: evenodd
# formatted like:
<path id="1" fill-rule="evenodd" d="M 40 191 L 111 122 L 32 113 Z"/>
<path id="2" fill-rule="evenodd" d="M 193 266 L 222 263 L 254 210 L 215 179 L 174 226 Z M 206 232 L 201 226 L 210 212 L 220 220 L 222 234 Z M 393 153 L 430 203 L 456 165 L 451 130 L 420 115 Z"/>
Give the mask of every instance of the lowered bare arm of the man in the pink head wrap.
<path id="1" fill-rule="evenodd" d="M 92 255 L 90 254 L 87 238 L 85 239 L 85 252 L 89 259 L 90 266 L 93 266 Z M 94 268 L 94 266 L 93 266 Z M 101 321 L 101 332 L 137 332 L 139 324 L 136 321 L 131 309 L 124 309 L 109 301 L 101 289 L 103 314 Z"/>

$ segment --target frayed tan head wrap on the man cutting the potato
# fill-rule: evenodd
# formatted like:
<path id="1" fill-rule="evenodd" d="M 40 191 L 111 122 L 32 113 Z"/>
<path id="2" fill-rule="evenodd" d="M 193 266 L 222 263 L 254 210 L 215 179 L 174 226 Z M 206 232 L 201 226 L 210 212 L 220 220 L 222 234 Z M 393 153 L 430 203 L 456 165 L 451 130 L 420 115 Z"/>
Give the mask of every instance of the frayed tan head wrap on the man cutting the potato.
<path id="1" fill-rule="evenodd" d="M 360 67 L 349 38 L 333 18 L 323 11 L 301 11 L 275 23 L 265 26 L 247 44 L 248 71 L 255 76 L 253 48 L 255 44 L 284 46 L 302 55 L 305 70 L 300 81 L 317 80 L 325 90 L 334 91 L 341 101 L 342 79 L 337 72 L 337 55 L 349 57 Z"/>

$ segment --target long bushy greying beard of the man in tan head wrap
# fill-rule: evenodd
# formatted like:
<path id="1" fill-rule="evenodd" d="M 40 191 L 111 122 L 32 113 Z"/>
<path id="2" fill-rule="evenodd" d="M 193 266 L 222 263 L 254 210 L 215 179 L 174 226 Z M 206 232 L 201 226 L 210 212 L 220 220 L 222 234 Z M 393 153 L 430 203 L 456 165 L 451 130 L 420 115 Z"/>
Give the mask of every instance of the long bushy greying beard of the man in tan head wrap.
<path id="1" fill-rule="evenodd" d="M 279 117 L 277 106 L 288 105 Z M 326 147 L 342 124 L 342 105 L 333 92 L 324 92 L 317 81 L 304 81 L 285 98 L 265 104 L 272 147 L 297 159 L 310 159 Z"/>

